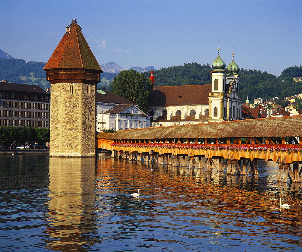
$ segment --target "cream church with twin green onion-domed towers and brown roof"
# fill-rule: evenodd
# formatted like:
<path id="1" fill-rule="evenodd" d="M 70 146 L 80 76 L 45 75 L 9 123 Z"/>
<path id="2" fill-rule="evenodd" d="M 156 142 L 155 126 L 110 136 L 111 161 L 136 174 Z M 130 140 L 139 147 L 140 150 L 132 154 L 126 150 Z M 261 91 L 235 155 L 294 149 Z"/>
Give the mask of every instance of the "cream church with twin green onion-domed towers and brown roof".
<path id="1" fill-rule="evenodd" d="M 219 51 L 212 63 L 211 85 L 153 88 L 149 111 L 153 127 L 242 119 L 240 68 L 234 54 L 226 67 Z"/>

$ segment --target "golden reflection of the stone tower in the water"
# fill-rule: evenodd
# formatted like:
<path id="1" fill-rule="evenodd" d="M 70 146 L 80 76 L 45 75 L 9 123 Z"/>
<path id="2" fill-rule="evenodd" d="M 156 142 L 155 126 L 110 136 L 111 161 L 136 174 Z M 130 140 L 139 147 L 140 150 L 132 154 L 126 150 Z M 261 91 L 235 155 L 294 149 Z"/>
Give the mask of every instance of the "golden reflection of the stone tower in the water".
<path id="1" fill-rule="evenodd" d="M 93 244 L 95 158 L 50 158 L 45 233 L 50 250 L 81 250 Z"/>

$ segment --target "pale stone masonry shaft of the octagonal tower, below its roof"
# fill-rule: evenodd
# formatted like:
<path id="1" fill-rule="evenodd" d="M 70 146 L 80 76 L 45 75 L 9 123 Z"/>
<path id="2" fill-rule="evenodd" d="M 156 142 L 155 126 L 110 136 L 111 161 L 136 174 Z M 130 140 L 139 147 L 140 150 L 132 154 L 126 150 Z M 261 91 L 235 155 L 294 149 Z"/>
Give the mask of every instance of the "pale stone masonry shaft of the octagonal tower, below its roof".
<path id="1" fill-rule="evenodd" d="M 95 85 L 51 84 L 50 156 L 95 156 Z"/>

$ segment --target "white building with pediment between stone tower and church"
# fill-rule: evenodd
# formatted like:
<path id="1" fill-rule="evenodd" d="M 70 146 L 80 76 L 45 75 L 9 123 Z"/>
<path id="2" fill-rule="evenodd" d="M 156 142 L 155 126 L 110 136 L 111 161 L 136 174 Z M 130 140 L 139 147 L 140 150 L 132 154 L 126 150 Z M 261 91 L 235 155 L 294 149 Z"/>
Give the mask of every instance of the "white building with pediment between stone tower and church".
<path id="1" fill-rule="evenodd" d="M 150 117 L 139 107 L 107 90 L 97 90 L 97 131 L 150 127 Z"/>

